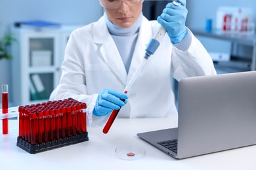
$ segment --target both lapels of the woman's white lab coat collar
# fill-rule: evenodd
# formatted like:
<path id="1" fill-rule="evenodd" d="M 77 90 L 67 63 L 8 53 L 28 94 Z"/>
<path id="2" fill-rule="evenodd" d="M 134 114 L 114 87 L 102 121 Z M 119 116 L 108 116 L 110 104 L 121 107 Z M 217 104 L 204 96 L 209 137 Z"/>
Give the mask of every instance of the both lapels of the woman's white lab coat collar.
<path id="1" fill-rule="evenodd" d="M 93 28 L 93 41 L 101 45 L 100 54 L 102 55 L 102 59 L 104 59 L 110 69 L 116 74 L 117 79 L 119 79 L 124 86 L 131 80 L 131 77 L 144 57 L 146 45 L 151 37 L 153 37 L 151 28 L 151 23 L 143 16 L 128 75 L 116 44 L 108 32 L 104 17 L 101 17 Z"/>

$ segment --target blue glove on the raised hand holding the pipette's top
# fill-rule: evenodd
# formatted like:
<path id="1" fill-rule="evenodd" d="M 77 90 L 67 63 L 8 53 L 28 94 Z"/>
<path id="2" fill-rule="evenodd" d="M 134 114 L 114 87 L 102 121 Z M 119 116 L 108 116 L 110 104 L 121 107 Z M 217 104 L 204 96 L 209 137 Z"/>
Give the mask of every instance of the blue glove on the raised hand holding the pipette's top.
<path id="1" fill-rule="evenodd" d="M 158 16 L 159 24 L 165 27 L 173 44 L 181 42 L 188 33 L 185 27 L 186 15 L 188 14 L 186 0 L 176 1 L 181 3 L 181 5 L 168 3 L 165 9 L 163 9 L 163 13 Z"/>

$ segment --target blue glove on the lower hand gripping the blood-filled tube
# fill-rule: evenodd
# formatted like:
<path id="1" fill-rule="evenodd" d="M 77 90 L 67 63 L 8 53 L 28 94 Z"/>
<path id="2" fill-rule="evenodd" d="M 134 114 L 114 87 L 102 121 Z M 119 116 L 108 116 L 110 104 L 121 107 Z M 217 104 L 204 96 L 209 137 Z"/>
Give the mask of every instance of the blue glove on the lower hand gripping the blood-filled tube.
<path id="1" fill-rule="evenodd" d="M 125 101 L 121 101 L 121 99 Z M 105 116 L 114 109 L 118 110 L 123 107 L 127 103 L 126 99 L 128 99 L 126 93 L 117 92 L 112 89 L 104 89 L 98 94 L 93 114 L 95 116 Z"/>

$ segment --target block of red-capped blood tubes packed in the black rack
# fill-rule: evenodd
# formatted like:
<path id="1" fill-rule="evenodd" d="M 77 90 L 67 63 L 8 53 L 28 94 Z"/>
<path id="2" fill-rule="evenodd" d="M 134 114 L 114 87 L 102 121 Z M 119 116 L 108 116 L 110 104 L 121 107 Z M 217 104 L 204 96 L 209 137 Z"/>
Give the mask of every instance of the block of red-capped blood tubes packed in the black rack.
<path id="1" fill-rule="evenodd" d="M 68 98 L 18 107 L 18 136 L 41 144 L 87 132 L 86 103 Z"/>

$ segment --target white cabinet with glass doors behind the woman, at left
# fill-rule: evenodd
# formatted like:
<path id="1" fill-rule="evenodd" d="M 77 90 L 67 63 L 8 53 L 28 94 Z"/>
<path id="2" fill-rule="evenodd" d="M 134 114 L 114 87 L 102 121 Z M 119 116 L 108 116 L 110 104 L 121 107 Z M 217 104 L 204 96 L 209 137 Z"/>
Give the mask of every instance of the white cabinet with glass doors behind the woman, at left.
<path id="1" fill-rule="evenodd" d="M 70 33 L 78 25 L 63 25 L 37 31 L 13 27 L 12 98 L 14 105 L 32 105 L 49 100 L 61 75 L 61 63 Z"/>

